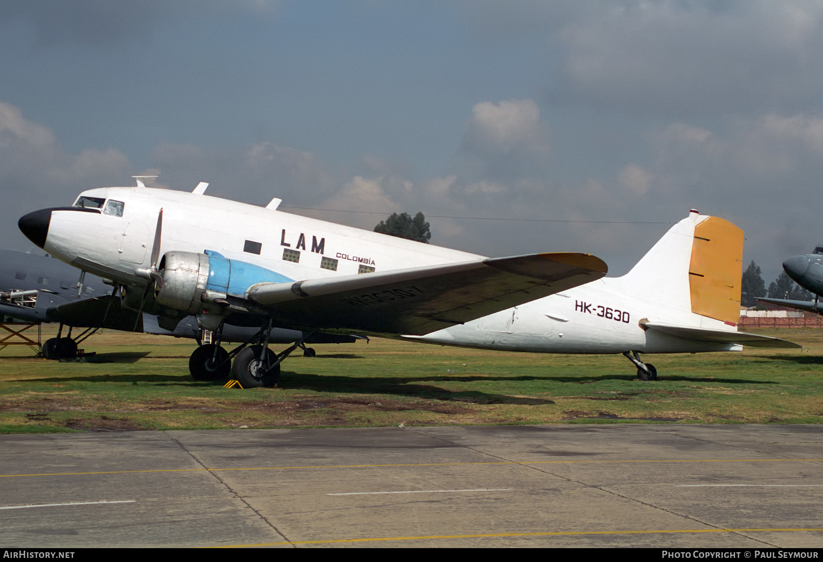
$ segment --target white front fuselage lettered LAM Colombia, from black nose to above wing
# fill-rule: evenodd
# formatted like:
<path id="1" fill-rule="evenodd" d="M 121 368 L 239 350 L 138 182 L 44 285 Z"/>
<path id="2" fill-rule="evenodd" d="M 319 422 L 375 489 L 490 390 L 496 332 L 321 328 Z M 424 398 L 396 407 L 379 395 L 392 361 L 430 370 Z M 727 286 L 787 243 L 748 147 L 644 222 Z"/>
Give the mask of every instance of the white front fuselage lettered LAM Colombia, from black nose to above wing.
<path id="1" fill-rule="evenodd" d="M 21 219 L 21 229 L 52 256 L 130 285 L 146 284 L 140 270 L 151 266 L 160 210 L 160 256 L 171 250 L 216 251 L 277 272 L 283 281 L 481 257 L 184 191 L 104 187 L 84 191 L 81 198 L 99 201 L 100 207 L 35 211 Z M 110 201 L 122 205 L 109 212 Z"/>

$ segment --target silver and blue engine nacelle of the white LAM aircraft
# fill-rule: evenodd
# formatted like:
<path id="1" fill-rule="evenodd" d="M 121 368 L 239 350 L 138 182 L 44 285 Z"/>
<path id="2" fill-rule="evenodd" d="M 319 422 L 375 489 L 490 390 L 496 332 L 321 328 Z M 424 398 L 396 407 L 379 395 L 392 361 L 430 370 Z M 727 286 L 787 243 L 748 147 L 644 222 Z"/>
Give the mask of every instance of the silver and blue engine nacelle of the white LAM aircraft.
<path id="1" fill-rule="evenodd" d="M 169 251 L 160 260 L 159 269 L 163 287 L 157 292 L 157 304 L 189 314 L 202 312 L 204 294 L 245 298 L 253 284 L 292 281 L 271 269 L 229 260 L 216 251 Z"/>

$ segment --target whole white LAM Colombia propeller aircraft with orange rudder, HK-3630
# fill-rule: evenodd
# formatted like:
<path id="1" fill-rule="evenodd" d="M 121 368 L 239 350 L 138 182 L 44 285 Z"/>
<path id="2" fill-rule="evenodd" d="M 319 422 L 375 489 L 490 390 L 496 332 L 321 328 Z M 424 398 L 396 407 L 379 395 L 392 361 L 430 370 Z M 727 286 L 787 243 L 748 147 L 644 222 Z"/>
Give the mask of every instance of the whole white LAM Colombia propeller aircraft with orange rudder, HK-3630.
<path id="1" fill-rule="evenodd" d="M 742 231 L 696 211 L 629 274 L 601 279 L 606 264 L 588 254 L 485 258 L 283 213 L 279 199 L 263 208 L 206 196 L 206 187 L 150 189 L 138 177 L 137 187 L 84 191 L 71 207 L 34 211 L 19 226 L 49 254 L 111 279 L 123 306 L 151 311 L 161 327 L 196 316 L 215 333 L 189 360 L 199 380 L 231 371 L 245 387 L 274 385 L 303 342 L 275 354 L 273 326 L 307 337 L 621 352 L 646 380 L 656 371 L 639 352 L 794 346 L 737 332 Z M 259 332 L 227 352 L 224 325 Z"/>

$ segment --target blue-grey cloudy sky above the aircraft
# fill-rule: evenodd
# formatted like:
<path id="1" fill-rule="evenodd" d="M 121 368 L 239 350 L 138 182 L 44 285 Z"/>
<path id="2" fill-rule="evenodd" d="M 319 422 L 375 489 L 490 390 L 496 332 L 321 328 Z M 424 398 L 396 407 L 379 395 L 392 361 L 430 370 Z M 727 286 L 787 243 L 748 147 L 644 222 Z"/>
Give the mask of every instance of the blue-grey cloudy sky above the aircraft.
<path id="1" fill-rule="evenodd" d="M 766 283 L 823 242 L 821 2 L 3 0 L 0 53 L 10 249 L 21 214 L 152 172 L 612 274 L 690 208 Z"/>

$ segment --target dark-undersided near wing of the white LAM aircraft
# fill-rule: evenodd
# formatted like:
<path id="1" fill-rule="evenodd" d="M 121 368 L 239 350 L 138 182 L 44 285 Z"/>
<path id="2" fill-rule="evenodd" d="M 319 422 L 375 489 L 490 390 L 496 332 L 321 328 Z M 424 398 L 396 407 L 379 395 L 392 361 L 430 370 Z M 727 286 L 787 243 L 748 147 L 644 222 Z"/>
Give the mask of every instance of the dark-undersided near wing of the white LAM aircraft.
<path id="1" fill-rule="evenodd" d="M 589 283 L 607 269 L 589 254 L 532 254 L 258 283 L 246 297 L 272 311 L 275 325 L 422 335 Z"/>

